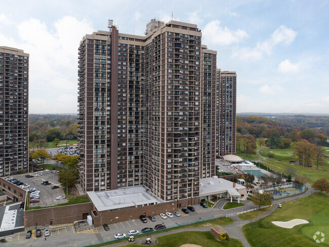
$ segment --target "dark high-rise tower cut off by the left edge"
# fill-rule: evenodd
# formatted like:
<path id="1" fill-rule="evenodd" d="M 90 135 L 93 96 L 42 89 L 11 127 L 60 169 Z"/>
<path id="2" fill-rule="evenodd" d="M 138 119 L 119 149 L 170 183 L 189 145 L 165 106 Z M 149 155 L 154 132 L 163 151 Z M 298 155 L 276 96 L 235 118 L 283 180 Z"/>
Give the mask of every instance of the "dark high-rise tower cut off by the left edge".
<path id="1" fill-rule="evenodd" d="M 29 54 L 0 46 L 0 176 L 28 171 Z"/>

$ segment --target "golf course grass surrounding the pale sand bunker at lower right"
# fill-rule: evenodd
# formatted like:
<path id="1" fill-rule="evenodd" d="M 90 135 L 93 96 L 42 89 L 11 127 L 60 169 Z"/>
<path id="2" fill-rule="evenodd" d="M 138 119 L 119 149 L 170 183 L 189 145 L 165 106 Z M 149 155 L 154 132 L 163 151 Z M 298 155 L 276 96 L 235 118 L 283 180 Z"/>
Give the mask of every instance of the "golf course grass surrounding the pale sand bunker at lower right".
<path id="1" fill-rule="evenodd" d="M 329 236 L 328 221 L 329 195 L 315 193 L 282 203 L 272 214 L 256 222 L 243 226 L 243 233 L 252 246 L 321 246 L 313 240 L 316 231 Z M 291 229 L 275 226 L 272 221 L 307 220 Z M 329 246 L 328 239 L 324 245 Z M 323 245 L 322 245 L 323 246 Z"/>

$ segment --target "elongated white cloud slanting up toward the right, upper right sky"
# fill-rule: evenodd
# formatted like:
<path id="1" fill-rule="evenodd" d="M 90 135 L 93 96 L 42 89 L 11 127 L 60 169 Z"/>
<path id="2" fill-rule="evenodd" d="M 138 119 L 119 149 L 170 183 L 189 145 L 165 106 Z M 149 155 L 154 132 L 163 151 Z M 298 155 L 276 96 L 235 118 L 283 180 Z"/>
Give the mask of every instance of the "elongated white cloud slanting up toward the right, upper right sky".
<path id="1" fill-rule="evenodd" d="M 258 42 L 255 48 L 244 47 L 235 49 L 232 53 L 232 57 L 236 57 L 240 60 L 259 60 L 263 57 L 264 53 L 268 55 L 272 54 L 273 49 L 278 45 L 291 45 L 296 36 L 296 31 L 281 25 L 272 33 L 271 38 L 263 42 Z"/>

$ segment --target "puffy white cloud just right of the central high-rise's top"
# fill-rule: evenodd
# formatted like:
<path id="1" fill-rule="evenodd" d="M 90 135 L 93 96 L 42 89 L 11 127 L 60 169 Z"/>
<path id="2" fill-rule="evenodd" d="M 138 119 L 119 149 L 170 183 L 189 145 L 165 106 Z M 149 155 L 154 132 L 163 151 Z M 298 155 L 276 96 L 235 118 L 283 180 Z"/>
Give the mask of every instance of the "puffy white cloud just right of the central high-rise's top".
<path id="1" fill-rule="evenodd" d="M 228 27 L 222 27 L 220 24 L 219 20 L 214 20 L 209 22 L 202 29 L 202 36 L 205 40 L 205 44 L 226 46 L 232 43 L 238 43 L 248 37 L 248 34 L 244 30 L 237 29 L 233 31 Z"/>

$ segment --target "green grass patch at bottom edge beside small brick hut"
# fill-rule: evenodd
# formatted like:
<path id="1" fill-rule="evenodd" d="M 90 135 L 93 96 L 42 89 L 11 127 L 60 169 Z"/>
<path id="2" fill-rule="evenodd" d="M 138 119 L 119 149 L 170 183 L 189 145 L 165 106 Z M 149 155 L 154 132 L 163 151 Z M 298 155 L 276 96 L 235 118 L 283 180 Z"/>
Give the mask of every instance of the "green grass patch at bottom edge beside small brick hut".
<path id="1" fill-rule="evenodd" d="M 156 247 L 179 247 L 184 243 L 194 243 L 202 245 L 203 247 L 214 247 L 214 246 L 243 246 L 240 240 L 230 238 L 227 241 L 218 241 L 210 232 L 196 232 L 186 231 L 178 232 L 170 235 L 165 235 L 156 238 L 158 243 Z M 126 244 L 121 245 L 125 247 L 134 246 L 145 246 L 140 244 Z"/>

